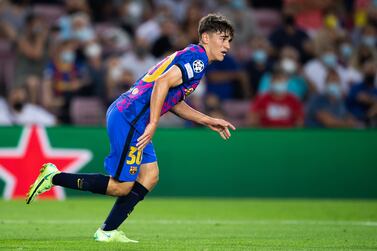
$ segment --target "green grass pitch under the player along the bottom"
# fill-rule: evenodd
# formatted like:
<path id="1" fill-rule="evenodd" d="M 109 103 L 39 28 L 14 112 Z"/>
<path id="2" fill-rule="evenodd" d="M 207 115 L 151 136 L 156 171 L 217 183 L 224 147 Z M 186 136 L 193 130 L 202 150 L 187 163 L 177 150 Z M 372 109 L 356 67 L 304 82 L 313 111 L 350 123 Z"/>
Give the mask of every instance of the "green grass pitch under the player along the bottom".
<path id="1" fill-rule="evenodd" d="M 0 250 L 376 250 L 377 201 L 158 199 L 97 243 L 112 199 L 0 201 Z"/>

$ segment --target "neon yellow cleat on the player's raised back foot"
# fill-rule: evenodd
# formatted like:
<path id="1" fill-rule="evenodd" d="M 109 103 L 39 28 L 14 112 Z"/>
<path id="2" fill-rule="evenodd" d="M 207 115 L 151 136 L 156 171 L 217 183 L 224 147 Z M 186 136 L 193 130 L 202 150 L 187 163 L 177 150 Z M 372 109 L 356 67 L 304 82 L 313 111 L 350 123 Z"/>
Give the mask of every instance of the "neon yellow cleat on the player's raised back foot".
<path id="1" fill-rule="evenodd" d="M 30 204 L 34 201 L 35 197 L 50 190 L 53 186 L 52 177 L 54 177 L 55 174 L 60 173 L 52 163 L 43 164 L 39 172 L 38 178 L 33 185 L 30 186 L 29 192 L 26 195 L 26 204 Z"/>

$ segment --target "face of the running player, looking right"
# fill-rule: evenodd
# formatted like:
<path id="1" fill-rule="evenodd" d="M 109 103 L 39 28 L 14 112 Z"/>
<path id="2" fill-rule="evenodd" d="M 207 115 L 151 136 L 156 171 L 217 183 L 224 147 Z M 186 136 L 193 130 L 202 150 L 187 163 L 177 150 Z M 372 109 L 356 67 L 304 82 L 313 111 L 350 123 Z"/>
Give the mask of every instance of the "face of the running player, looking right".
<path id="1" fill-rule="evenodd" d="M 210 60 L 223 61 L 225 54 L 230 50 L 232 37 L 225 32 L 211 33 L 208 36 Z"/>

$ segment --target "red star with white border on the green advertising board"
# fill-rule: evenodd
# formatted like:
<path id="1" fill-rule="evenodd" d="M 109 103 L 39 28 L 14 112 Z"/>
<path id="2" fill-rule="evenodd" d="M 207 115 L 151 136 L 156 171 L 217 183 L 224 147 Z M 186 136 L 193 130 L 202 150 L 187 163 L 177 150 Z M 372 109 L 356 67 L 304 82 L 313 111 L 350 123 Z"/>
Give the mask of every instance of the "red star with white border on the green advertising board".
<path id="1" fill-rule="evenodd" d="M 83 149 L 52 149 L 44 128 L 25 127 L 17 148 L 0 149 L 0 178 L 5 181 L 4 198 L 25 198 L 42 164 L 54 163 L 60 171 L 77 172 L 92 158 Z M 42 198 L 64 199 L 64 190 L 54 186 Z"/>

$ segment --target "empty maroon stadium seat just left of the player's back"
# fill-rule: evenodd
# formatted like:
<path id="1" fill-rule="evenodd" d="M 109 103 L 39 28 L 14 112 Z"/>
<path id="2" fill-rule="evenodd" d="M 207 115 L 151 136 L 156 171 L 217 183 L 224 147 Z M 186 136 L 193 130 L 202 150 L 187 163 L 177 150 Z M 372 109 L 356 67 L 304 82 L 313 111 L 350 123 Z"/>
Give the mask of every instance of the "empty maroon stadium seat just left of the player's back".
<path id="1" fill-rule="evenodd" d="M 103 125 L 105 109 L 99 98 L 76 97 L 72 100 L 70 115 L 75 125 Z"/>

